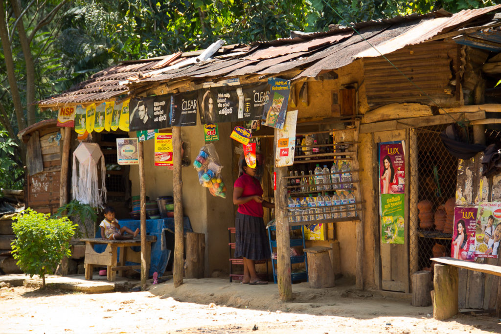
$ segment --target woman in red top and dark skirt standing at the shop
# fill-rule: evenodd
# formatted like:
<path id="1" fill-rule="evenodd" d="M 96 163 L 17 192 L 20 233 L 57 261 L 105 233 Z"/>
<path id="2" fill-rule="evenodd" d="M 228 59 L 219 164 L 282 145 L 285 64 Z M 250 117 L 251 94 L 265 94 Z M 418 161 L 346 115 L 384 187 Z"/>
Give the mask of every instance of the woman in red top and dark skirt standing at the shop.
<path id="1" fill-rule="evenodd" d="M 240 159 L 239 177 L 233 185 L 233 204 L 238 205 L 235 218 L 235 257 L 243 257 L 243 284 L 268 284 L 256 274 L 256 260 L 270 258 L 270 248 L 263 220 L 263 206 L 275 204 L 263 200 L 263 188 L 255 177 L 256 169 Z"/>

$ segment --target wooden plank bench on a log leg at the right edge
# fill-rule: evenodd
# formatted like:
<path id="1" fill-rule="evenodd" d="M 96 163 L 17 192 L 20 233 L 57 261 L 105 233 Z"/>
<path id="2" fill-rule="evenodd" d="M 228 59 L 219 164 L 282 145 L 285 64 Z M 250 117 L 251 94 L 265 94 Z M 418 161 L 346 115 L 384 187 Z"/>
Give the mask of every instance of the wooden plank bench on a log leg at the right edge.
<path id="1" fill-rule="evenodd" d="M 501 276 L 501 266 L 470 262 L 452 257 L 434 257 L 436 262 L 433 278 L 433 317 L 437 320 L 445 320 L 457 314 L 457 268 L 480 271 L 487 274 Z M 501 291 L 497 292 L 497 308 L 501 307 Z"/>

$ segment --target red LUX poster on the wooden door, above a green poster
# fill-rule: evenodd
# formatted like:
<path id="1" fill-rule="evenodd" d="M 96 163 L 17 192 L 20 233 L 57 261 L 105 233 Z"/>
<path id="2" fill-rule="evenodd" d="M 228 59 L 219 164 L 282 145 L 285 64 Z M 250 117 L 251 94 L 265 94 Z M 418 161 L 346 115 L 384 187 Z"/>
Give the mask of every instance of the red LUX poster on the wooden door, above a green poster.
<path id="1" fill-rule="evenodd" d="M 405 190 L 404 142 L 379 144 L 379 183 L 381 194 L 403 194 Z"/>

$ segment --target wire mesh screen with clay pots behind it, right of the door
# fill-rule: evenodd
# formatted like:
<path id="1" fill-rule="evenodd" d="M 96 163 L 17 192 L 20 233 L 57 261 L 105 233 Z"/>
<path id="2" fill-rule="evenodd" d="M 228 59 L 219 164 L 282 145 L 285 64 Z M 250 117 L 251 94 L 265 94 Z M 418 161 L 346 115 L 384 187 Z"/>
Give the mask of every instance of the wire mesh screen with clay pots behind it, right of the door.
<path id="1" fill-rule="evenodd" d="M 444 226 L 440 216 L 445 217 L 445 202 L 455 198 L 457 159 L 440 140 L 439 134 L 446 126 L 414 130 L 417 152 L 411 154 L 417 153 L 417 159 L 410 157 L 410 167 L 417 177 L 411 179 L 409 205 L 411 214 L 418 212 L 419 219 L 417 229 L 410 229 L 410 239 L 414 240 L 409 249 L 414 259 L 411 274 L 413 270 L 430 270 L 433 256 L 450 256 L 452 226 Z"/>

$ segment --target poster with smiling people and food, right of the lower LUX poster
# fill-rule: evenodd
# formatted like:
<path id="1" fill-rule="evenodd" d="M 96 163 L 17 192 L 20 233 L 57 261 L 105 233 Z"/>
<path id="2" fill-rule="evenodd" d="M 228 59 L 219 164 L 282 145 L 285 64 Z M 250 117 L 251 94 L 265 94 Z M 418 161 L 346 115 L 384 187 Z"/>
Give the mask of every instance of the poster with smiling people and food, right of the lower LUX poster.
<path id="1" fill-rule="evenodd" d="M 497 258 L 500 237 L 501 203 L 478 203 L 475 230 L 475 257 Z"/>

